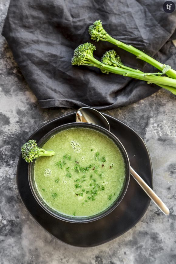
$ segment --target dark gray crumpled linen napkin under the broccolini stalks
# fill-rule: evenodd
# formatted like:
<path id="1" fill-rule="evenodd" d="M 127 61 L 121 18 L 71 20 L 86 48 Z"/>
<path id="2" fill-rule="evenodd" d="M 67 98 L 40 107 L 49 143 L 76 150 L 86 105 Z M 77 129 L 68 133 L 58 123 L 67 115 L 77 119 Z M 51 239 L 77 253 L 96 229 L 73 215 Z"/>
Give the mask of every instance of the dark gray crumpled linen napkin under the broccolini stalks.
<path id="1" fill-rule="evenodd" d="M 88 27 L 101 19 L 114 38 L 176 69 L 176 13 L 161 0 L 11 0 L 2 35 L 42 108 L 110 109 L 131 104 L 159 89 L 155 85 L 93 67 L 71 65 L 74 49 L 90 41 Z M 115 49 L 124 64 L 154 71 L 134 55 L 107 42 L 94 55 Z"/>

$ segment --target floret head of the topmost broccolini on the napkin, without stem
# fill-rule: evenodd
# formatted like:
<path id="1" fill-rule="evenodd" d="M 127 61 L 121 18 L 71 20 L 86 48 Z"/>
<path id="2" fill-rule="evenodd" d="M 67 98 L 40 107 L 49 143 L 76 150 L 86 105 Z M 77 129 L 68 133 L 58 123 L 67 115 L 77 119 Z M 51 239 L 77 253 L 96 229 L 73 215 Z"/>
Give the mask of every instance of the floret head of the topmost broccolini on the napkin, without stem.
<path id="1" fill-rule="evenodd" d="M 103 29 L 102 22 L 100 20 L 96 20 L 93 25 L 89 27 L 89 34 L 91 39 L 99 41 L 107 40 L 107 32 Z"/>

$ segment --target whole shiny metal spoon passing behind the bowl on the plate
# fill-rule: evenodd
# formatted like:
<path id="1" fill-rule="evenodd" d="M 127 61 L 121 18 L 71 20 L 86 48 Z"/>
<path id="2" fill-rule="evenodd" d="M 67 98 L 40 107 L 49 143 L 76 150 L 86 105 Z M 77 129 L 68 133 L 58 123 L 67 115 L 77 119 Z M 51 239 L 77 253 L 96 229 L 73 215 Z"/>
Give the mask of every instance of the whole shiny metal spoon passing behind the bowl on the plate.
<path id="1" fill-rule="evenodd" d="M 76 112 L 76 122 L 87 122 L 100 125 L 110 131 L 110 125 L 107 119 L 97 110 L 90 107 L 82 107 Z M 130 167 L 130 173 L 134 179 L 139 183 L 140 187 L 146 192 L 157 207 L 166 215 L 169 214 L 168 207 L 161 201 L 161 199 L 154 193 L 154 191 L 147 185 L 147 183 Z"/>

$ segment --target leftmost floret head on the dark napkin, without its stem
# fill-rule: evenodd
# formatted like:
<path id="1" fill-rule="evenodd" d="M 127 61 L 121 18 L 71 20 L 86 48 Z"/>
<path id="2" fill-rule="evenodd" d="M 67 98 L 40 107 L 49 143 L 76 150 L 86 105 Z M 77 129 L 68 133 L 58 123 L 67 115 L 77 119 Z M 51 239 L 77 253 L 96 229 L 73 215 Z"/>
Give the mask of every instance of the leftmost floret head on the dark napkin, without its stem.
<path id="1" fill-rule="evenodd" d="M 91 43 L 84 43 L 78 46 L 74 50 L 73 58 L 72 58 L 72 65 L 88 65 L 94 66 L 92 61 L 93 58 L 93 51 L 96 50 L 96 47 Z"/>

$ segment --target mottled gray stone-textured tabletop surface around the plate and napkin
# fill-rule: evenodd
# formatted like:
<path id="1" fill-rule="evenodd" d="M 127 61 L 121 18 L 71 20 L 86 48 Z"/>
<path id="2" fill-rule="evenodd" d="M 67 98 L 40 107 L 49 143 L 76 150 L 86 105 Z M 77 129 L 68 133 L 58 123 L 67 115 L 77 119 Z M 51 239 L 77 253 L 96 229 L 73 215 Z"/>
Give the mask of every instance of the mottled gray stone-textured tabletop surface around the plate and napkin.
<path id="1" fill-rule="evenodd" d="M 0 0 L 1 29 L 8 3 Z M 1 37 L 0 263 L 176 263 L 176 97 L 167 91 L 106 113 L 131 126 L 146 142 L 153 164 L 154 191 L 169 207 L 168 217 L 151 202 L 130 231 L 104 245 L 82 249 L 52 238 L 25 210 L 15 182 L 20 147 L 39 126 L 73 111 L 39 107 Z"/>

